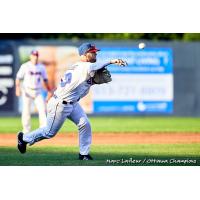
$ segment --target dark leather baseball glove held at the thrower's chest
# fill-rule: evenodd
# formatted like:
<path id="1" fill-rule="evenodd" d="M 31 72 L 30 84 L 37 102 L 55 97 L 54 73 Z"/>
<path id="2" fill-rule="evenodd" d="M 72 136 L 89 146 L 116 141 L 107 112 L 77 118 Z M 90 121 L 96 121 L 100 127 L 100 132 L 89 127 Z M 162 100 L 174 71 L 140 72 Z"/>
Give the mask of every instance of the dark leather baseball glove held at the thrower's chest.
<path id="1" fill-rule="evenodd" d="M 106 67 L 97 70 L 92 78 L 94 84 L 109 83 L 112 81 L 111 74 Z"/>

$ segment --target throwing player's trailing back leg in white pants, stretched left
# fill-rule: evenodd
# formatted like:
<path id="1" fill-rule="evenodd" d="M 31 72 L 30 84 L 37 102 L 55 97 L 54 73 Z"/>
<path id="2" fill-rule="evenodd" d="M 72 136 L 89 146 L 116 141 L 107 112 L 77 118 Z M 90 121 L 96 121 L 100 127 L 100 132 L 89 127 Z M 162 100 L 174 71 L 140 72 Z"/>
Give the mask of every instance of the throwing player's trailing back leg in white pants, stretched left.
<path id="1" fill-rule="evenodd" d="M 47 126 L 24 134 L 23 140 L 32 145 L 40 140 L 54 137 L 71 113 L 72 108 L 72 105 L 66 107 L 52 98 L 47 105 Z"/>

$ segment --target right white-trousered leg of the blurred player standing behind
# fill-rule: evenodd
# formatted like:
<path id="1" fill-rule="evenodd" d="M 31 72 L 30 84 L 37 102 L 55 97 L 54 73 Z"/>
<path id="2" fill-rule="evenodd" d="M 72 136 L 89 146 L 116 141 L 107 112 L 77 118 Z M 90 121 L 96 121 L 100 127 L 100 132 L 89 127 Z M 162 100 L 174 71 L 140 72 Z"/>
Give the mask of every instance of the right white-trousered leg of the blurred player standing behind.
<path id="1" fill-rule="evenodd" d="M 42 97 L 41 94 L 39 94 L 36 96 L 34 102 L 38 110 L 40 128 L 45 127 L 47 125 L 47 117 L 46 117 L 46 105 L 44 98 Z"/>

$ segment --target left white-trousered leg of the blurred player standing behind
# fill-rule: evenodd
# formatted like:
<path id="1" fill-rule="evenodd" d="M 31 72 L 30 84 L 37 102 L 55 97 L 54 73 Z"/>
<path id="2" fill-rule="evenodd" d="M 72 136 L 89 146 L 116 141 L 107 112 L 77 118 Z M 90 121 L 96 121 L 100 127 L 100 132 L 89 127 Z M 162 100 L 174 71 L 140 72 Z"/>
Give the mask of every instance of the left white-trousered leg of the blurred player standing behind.
<path id="1" fill-rule="evenodd" d="M 31 130 L 31 102 L 32 99 L 22 92 L 22 126 L 23 132 L 28 133 Z"/>

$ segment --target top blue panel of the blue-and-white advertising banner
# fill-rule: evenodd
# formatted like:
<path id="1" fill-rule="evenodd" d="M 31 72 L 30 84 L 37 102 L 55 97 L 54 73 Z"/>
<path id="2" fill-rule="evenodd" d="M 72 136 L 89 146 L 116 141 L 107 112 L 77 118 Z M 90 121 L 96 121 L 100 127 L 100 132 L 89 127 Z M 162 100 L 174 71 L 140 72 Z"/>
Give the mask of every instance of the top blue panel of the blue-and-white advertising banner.
<path id="1" fill-rule="evenodd" d="M 100 60 L 121 58 L 128 62 L 124 69 L 110 66 L 112 73 L 172 73 L 172 49 L 170 48 L 101 48 Z"/>

